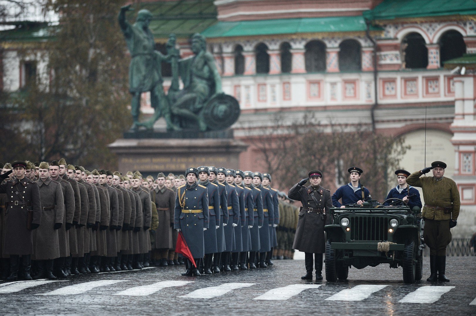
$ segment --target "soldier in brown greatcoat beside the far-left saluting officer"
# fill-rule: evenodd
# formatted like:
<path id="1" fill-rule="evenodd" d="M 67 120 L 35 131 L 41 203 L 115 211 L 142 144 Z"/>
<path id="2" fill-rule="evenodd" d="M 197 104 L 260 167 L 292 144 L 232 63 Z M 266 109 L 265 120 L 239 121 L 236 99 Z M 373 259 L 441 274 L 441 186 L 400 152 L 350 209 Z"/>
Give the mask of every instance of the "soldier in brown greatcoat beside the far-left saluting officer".
<path id="1" fill-rule="evenodd" d="M 38 260 L 38 273 L 34 279 L 56 279 L 53 275 L 53 260 L 60 257 L 58 230 L 63 225 L 64 199 L 61 184 L 51 180 L 50 165 L 41 162 L 39 179 L 41 222 L 33 232 L 33 259 Z"/>

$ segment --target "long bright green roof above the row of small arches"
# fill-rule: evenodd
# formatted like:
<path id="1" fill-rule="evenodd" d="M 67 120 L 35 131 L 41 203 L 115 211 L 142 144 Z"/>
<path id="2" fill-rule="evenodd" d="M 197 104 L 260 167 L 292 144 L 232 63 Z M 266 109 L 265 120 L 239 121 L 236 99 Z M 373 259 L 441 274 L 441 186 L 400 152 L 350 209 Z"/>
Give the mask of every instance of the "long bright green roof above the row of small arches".
<path id="1" fill-rule="evenodd" d="M 224 22 L 207 28 L 202 35 L 213 37 L 259 36 L 297 33 L 364 32 L 365 20 L 355 17 L 296 18 Z M 371 30 L 381 28 L 371 27 Z"/>

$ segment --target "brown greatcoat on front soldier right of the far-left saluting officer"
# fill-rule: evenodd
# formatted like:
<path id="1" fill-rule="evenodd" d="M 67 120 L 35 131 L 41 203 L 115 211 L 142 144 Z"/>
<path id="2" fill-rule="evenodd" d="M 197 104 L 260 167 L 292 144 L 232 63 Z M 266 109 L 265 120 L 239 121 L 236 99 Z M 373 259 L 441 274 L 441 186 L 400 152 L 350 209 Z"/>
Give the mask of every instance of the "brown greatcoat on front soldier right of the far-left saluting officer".
<path id="1" fill-rule="evenodd" d="M 49 260 L 60 257 L 60 241 L 55 223 L 63 223 L 64 199 L 59 182 L 48 177 L 45 181 L 38 179 L 40 188 L 41 223 L 33 231 L 33 260 Z M 53 207 L 46 210 L 45 208 Z"/>

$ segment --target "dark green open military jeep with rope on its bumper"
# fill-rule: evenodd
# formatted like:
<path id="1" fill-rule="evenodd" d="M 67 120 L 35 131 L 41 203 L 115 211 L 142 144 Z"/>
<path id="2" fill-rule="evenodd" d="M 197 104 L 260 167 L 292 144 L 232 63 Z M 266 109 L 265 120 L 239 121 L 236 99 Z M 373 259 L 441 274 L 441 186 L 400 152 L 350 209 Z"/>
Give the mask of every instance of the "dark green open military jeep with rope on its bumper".
<path id="1" fill-rule="evenodd" d="M 327 281 L 346 280 L 352 266 L 363 269 L 381 263 L 402 267 L 405 283 L 422 278 L 425 243 L 419 207 L 411 210 L 369 201 L 329 211 L 334 221 L 324 228 Z"/>

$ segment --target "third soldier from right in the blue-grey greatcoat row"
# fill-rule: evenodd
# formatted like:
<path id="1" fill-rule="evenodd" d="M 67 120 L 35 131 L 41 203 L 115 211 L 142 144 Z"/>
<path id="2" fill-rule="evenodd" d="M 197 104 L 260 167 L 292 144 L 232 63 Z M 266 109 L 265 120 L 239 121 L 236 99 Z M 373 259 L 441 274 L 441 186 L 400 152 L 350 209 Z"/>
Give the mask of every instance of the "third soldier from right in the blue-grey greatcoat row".
<path id="1" fill-rule="evenodd" d="M 259 240 L 259 231 L 263 227 L 264 221 L 263 197 L 261 195 L 261 190 L 253 185 L 253 178 L 255 177 L 255 174 L 251 171 L 245 171 L 243 175 L 245 176 L 243 179 L 245 186 L 252 190 L 253 196 L 253 212 L 249 213 L 250 218 L 251 216 L 253 216 L 254 219 L 253 227 L 249 229 L 249 233 L 251 236 L 251 248 L 249 250 L 248 266 L 249 269 L 256 269 L 256 252 L 259 252 L 259 248 L 261 245 L 261 242 Z M 251 208 L 248 208 L 248 212 L 251 212 Z"/>

